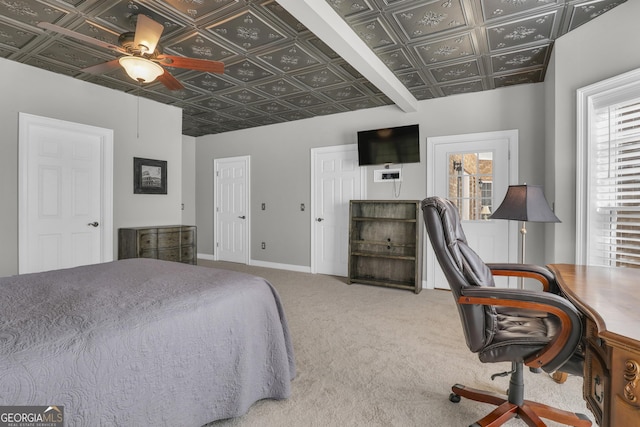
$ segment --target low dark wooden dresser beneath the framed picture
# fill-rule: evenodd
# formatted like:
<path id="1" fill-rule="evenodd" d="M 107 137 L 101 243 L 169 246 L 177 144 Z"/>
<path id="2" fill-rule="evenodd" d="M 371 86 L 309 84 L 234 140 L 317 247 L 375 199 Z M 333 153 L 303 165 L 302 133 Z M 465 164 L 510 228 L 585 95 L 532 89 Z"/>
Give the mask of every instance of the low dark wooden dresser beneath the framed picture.
<path id="1" fill-rule="evenodd" d="M 197 236 L 194 225 L 132 227 L 118 230 L 118 259 L 155 258 L 197 263 Z"/>

